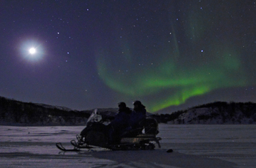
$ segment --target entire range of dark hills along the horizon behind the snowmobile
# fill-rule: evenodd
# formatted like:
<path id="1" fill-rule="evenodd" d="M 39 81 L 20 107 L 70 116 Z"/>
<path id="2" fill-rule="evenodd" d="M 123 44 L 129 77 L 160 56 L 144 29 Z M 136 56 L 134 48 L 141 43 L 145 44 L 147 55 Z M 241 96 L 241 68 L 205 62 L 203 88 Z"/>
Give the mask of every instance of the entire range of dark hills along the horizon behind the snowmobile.
<path id="1" fill-rule="evenodd" d="M 46 126 L 85 125 L 93 110 L 23 103 L 0 97 L 0 125 Z M 102 117 L 112 120 L 117 108 L 101 108 Z M 215 102 L 179 110 L 171 114 L 152 115 L 159 123 L 169 124 L 256 124 L 256 103 Z"/>

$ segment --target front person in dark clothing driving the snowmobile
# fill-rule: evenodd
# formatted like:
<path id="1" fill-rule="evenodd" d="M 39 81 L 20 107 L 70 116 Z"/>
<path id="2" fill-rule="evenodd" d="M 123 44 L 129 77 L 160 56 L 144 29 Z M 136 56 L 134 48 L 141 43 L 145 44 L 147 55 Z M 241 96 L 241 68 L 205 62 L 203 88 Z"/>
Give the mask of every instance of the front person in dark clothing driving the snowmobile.
<path id="1" fill-rule="evenodd" d="M 130 129 L 129 118 L 132 111 L 124 102 L 118 103 L 119 112 L 110 122 L 109 127 L 109 142 L 117 143 L 121 140 L 123 132 Z"/>

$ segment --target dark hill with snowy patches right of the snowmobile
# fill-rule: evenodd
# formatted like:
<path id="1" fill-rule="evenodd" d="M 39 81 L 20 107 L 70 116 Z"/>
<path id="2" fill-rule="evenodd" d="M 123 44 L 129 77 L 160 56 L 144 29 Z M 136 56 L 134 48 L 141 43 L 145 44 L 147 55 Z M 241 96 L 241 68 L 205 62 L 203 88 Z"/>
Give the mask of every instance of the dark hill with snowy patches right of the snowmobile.
<path id="1" fill-rule="evenodd" d="M 169 124 L 256 124 L 256 103 L 215 102 L 154 118 Z"/>

